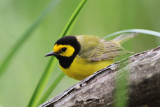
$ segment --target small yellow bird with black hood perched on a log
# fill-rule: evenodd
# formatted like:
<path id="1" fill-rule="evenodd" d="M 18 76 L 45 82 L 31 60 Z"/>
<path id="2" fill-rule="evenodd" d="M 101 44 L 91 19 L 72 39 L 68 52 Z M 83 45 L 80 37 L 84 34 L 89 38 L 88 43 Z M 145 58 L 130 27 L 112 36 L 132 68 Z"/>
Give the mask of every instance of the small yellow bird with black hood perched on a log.
<path id="1" fill-rule="evenodd" d="M 116 57 L 130 53 L 121 44 L 135 35 L 125 33 L 112 40 L 93 35 L 64 36 L 46 56 L 55 56 L 67 76 L 82 80 L 114 63 Z"/>

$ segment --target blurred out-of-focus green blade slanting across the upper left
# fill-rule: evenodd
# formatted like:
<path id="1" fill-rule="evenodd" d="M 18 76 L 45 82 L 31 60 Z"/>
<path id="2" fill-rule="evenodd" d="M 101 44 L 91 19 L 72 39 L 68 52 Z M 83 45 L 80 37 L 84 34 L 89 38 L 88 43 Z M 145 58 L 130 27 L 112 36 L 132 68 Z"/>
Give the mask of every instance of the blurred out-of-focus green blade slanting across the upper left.
<path id="1" fill-rule="evenodd" d="M 54 0 L 44 11 L 41 13 L 41 15 L 35 20 L 35 22 L 29 27 L 29 29 L 21 36 L 21 38 L 13 45 L 11 48 L 11 51 L 8 52 L 7 56 L 2 61 L 2 64 L 0 66 L 0 76 L 7 68 L 9 62 L 12 60 L 13 56 L 16 54 L 16 52 L 20 49 L 20 47 L 23 46 L 24 42 L 27 41 L 27 39 L 31 36 L 33 31 L 38 27 L 38 25 L 42 22 L 42 20 L 47 16 L 47 14 L 57 6 L 61 0 Z"/>

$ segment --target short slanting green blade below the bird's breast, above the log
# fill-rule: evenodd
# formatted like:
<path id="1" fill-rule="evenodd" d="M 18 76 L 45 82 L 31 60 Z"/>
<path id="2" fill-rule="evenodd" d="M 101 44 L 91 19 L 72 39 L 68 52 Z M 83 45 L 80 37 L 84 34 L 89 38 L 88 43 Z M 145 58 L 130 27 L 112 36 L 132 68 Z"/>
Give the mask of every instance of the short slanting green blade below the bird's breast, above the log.
<path id="1" fill-rule="evenodd" d="M 45 100 L 53 92 L 53 90 L 56 88 L 56 86 L 59 84 L 59 82 L 63 79 L 64 76 L 65 76 L 65 74 L 63 72 L 61 72 L 61 74 L 58 75 L 58 77 L 55 79 L 55 81 L 51 84 L 51 86 L 47 89 L 45 94 L 42 96 L 39 104 L 45 102 Z"/>

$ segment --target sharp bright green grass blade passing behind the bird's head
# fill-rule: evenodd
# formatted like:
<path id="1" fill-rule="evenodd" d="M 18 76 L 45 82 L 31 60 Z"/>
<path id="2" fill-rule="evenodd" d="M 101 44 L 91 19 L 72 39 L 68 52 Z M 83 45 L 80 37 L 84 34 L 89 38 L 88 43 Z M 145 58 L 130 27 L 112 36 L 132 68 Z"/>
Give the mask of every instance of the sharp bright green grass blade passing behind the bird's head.
<path id="1" fill-rule="evenodd" d="M 87 0 L 82 0 L 80 2 L 80 4 L 78 5 L 78 7 L 76 8 L 76 10 L 74 11 L 74 13 L 72 14 L 71 18 L 69 19 L 68 23 L 66 24 L 62 34 L 60 35 L 60 37 L 63 37 L 65 36 L 72 23 L 74 22 L 74 20 L 76 19 L 76 17 L 78 16 L 80 10 L 82 9 L 82 7 L 84 6 L 84 4 L 86 3 Z M 52 62 L 55 62 L 55 58 L 52 59 L 53 61 L 50 61 L 50 63 L 48 64 L 47 68 L 46 68 L 46 73 L 44 73 L 44 75 L 42 75 L 38 85 L 37 85 L 37 88 L 35 89 L 34 93 L 33 93 L 33 96 L 28 104 L 29 107 L 35 107 L 38 105 L 38 101 L 40 99 L 40 96 L 42 94 L 42 90 L 44 90 L 44 88 L 46 87 L 47 85 L 47 81 L 49 80 L 49 78 L 51 77 L 51 75 L 49 75 L 50 73 L 52 73 L 53 71 L 53 68 L 50 67 L 50 65 L 52 65 L 51 63 Z M 62 79 L 62 78 L 61 78 Z M 45 82 L 43 82 L 45 81 Z M 60 81 L 60 80 L 59 80 Z M 58 84 L 58 83 L 57 83 Z M 45 95 L 45 94 L 44 94 Z M 45 95 L 46 96 L 46 95 Z M 46 96 L 48 97 L 48 96 Z M 45 99 L 43 99 L 45 100 Z"/>

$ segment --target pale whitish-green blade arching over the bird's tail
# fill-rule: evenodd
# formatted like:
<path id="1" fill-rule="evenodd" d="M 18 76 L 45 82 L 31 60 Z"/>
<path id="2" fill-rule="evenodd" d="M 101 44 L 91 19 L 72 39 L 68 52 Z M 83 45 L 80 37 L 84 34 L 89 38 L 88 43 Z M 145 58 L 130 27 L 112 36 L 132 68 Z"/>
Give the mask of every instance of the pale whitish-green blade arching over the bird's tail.
<path id="1" fill-rule="evenodd" d="M 143 33 L 143 34 L 154 35 L 154 36 L 160 37 L 160 32 L 146 30 L 146 29 L 129 29 L 129 30 L 122 30 L 122 31 L 118 31 L 118 32 L 109 34 L 105 36 L 104 38 L 114 37 L 115 35 L 119 35 L 122 33 L 131 33 L 131 32 Z"/>

